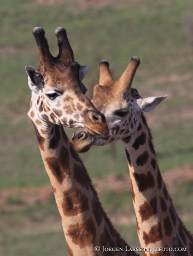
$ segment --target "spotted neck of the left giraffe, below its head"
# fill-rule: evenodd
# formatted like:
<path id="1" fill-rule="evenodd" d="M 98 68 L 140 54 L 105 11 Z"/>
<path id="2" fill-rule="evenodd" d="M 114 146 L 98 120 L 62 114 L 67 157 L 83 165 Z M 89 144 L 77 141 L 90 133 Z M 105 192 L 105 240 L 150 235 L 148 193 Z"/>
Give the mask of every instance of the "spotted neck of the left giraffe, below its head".
<path id="1" fill-rule="evenodd" d="M 102 255 L 136 256 L 136 253 L 126 252 L 125 247 L 130 247 L 113 228 L 63 127 L 52 125 L 43 130 L 36 122 L 34 128 L 70 255 L 101 255 L 107 246 L 124 249 L 123 252 L 108 251 Z M 100 246 L 100 252 L 95 251 L 96 246 Z"/>

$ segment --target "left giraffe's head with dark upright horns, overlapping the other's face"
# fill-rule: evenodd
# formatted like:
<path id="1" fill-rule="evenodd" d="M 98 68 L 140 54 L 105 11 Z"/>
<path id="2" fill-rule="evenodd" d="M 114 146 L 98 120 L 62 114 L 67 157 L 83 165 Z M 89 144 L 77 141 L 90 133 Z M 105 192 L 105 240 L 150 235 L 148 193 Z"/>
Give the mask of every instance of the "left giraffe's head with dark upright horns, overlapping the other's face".
<path id="1" fill-rule="evenodd" d="M 32 91 L 28 116 L 41 121 L 45 127 L 59 124 L 67 127 L 87 127 L 91 134 L 108 134 L 105 116 L 95 109 L 84 95 L 86 87 L 81 82 L 88 66 L 74 61 L 65 28 L 58 27 L 59 53 L 53 57 L 41 27 L 33 29 L 39 53 L 39 70 L 26 67 L 28 85 Z"/>

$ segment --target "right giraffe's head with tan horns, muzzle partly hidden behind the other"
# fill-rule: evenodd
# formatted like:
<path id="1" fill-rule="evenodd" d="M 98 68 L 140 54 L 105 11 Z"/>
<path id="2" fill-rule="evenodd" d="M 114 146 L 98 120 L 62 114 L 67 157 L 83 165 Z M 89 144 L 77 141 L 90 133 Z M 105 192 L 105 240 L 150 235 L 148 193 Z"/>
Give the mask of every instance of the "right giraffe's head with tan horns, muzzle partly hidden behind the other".
<path id="1" fill-rule="evenodd" d="M 118 139 L 127 140 L 128 137 L 131 139 L 137 130 L 137 123 L 143 119 L 142 112 L 153 110 L 166 98 L 143 99 L 135 88 L 131 88 L 139 65 L 140 59 L 132 57 L 125 72 L 115 81 L 108 62 L 101 61 L 99 84 L 94 86 L 92 103 L 105 115 L 110 133 L 97 137 L 87 129 L 78 129 L 72 137 L 72 144 L 78 152 L 86 152 L 92 145 L 107 145 Z"/>

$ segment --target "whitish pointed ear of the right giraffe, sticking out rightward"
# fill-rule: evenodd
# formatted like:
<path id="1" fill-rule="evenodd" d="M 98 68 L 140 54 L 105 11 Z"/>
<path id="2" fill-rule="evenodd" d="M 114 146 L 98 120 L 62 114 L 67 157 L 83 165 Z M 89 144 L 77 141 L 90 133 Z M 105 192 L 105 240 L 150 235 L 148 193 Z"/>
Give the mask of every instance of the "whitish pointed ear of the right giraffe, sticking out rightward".
<path id="1" fill-rule="evenodd" d="M 162 97 L 147 97 L 147 98 L 140 98 L 137 99 L 137 105 L 138 107 L 140 107 L 141 111 L 145 111 L 145 112 L 150 112 L 153 109 L 155 109 L 155 107 L 160 104 L 161 101 L 165 100 L 167 97 L 166 96 L 162 96 Z"/>

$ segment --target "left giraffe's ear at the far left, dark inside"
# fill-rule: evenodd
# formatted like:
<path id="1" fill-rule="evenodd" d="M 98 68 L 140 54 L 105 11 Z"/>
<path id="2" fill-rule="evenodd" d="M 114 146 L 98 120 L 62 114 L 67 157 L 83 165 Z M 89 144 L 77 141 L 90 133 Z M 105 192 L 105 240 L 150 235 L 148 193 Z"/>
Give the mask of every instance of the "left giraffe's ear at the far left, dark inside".
<path id="1" fill-rule="evenodd" d="M 28 85 L 32 91 L 37 89 L 43 89 L 43 81 L 40 77 L 37 76 L 36 70 L 33 67 L 27 66 L 26 72 L 28 75 Z"/>

